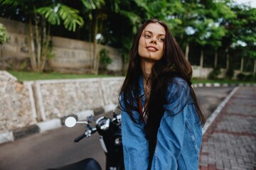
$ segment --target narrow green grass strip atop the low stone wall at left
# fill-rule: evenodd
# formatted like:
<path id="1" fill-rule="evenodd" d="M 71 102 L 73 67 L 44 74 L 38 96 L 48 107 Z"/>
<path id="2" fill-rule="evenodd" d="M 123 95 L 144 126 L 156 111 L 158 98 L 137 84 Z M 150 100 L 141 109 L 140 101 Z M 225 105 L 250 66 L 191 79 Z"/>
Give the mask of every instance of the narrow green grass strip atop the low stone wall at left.
<path id="1" fill-rule="evenodd" d="M 62 74 L 56 72 L 38 73 L 38 72 L 21 72 L 21 71 L 7 71 L 18 79 L 18 81 L 29 80 L 46 80 L 46 79 L 85 79 L 85 78 L 102 78 L 113 77 L 110 75 L 92 75 L 92 74 Z"/>

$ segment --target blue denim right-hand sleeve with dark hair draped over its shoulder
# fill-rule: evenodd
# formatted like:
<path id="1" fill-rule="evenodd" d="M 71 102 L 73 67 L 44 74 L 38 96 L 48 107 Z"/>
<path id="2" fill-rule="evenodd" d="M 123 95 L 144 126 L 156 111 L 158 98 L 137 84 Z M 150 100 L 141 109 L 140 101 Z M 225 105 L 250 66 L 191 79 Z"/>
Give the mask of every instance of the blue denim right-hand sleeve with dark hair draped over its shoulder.
<path id="1" fill-rule="evenodd" d="M 186 129 L 189 89 L 185 83 L 172 82 L 167 91 L 164 116 L 157 133 L 156 149 L 151 169 L 178 169 Z"/>

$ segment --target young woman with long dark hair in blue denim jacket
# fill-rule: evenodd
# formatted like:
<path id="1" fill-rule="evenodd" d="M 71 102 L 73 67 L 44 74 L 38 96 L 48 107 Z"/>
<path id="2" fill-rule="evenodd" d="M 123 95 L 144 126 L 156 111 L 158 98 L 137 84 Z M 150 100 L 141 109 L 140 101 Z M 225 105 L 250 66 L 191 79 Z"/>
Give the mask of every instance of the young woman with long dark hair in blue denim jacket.
<path id="1" fill-rule="evenodd" d="M 120 91 L 125 169 L 198 169 L 205 118 L 191 65 L 166 23 L 146 21 L 134 37 Z"/>

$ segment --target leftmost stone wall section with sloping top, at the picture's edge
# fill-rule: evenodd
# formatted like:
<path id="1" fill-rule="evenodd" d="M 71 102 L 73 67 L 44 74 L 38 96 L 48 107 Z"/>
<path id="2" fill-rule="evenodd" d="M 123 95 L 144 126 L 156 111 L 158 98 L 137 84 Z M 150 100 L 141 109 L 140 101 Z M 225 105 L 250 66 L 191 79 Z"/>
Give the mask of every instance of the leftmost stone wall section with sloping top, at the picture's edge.
<path id="1" fill-rule="evenodd" d="M 0 71 L 0 133 L 36 123 L 31 84 Z"/>

